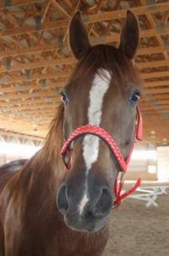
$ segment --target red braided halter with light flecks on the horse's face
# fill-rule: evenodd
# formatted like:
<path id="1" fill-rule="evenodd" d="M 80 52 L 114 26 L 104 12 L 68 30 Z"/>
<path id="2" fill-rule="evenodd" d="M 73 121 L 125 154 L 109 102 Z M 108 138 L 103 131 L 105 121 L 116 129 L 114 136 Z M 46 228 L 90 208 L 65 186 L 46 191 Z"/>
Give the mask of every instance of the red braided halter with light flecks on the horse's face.
<path id="1" fill-rule="evenodd" d="M 70 143 L 72 143 L 76 137 L 80 137 L 81 135 L 86 135 L 86 134 L 92 134 L 93 136 L 98 136 L 104 142 L 108 145 L 110 148 L 110 151 L 112 154 L 114 154 L 115 159 L 117 160 L 119 166 L 121 167 L 121 177 L 120 181 L 118 182 L 118 177 L 115 178 L 115 201 L 114 201 L 114 206 L 117 207 L 121 204 L 121 201 L 123 201 L 128 195 L 131 195 L 136 189 L 141 184 L 141 179 L 138 178 L 137 182 L 132 186 L 131 189 L 128 189 L 124 193 L 122 193 L 122 188 L 124 186 L 124 174 L 127 172 L 127 166 L 129 164 L 129 161 L 131 159 L 131 154 L 132 154 L 132 149 L 135 143 L 135 140 L 141 141 L 142 134 L 143 134 L 143 120 L 142 120 L 142 115 L 140 113 L 139 108 L 137 107 L 137 125 L 135 129 L 135 137 L 134 137 L 134 142 L 132 145 L 132 148 L 127 156 L 127 159 L 125 160 L 123 155 L 121 154 L 119 148 L 117 147 L 114 139 L 110 136 L 110 134 L 105 131 L 103 128 L 100 126 L 96 125 L 84 125 L 81 127 L 78 127 L 75 131 L 73 131 L 70 134 L 70 137 L 65 141 L 63 148 L 61 149 L 61 156 L 63 158 L 63 161 L 65 163 L 65 166 L 67 169 L 70 169 Z"/>

